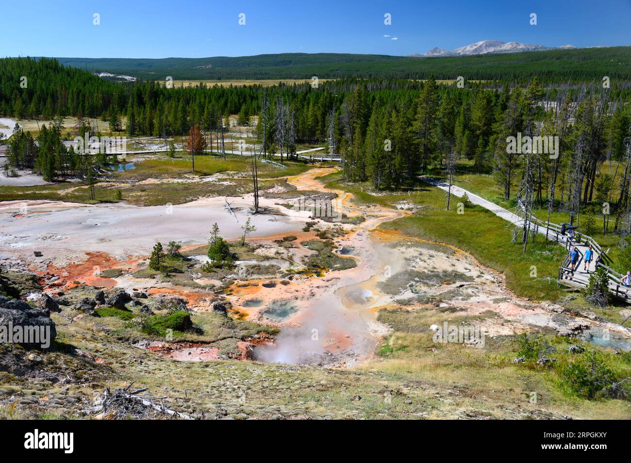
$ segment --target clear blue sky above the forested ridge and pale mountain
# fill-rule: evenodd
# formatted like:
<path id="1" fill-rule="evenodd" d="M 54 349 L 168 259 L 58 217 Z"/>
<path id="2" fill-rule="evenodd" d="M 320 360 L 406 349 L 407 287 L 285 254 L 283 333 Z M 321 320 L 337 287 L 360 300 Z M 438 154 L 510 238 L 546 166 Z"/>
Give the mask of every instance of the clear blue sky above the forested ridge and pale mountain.
<path id="1" fill-rule="evenodd" d="M 631 45 L 631 0 L 0 0 L 0 5 L 0 56 L 407 55 L 485 39 L 550 47 Z M 93 25 L 94 13 L 100 25 Z M 239 13 L 245 13 L 245 25 L 239 25 Z M 392 25 L 384 25 L 385 13 L 391 13 Z M 536 26 L 529 24 L 531 13 L 537 14 Z"/>

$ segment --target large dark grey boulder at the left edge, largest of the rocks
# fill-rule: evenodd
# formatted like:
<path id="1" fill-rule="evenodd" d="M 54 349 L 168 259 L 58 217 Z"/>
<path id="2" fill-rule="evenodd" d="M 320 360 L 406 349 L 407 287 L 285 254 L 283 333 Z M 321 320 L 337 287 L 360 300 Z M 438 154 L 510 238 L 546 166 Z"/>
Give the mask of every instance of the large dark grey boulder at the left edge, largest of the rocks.
<path id="1" fill-rule="evenodd" d="M 16 327 L 21 329 L 16 330 Z M 20 338 L 16 337 L 18 333 Z M 0 341 L 21 344 L 27 349 L 45 349 L 56 337 L 57 330 L 49 310 L 33 308 L 21 300 L 0 295 Z"/>

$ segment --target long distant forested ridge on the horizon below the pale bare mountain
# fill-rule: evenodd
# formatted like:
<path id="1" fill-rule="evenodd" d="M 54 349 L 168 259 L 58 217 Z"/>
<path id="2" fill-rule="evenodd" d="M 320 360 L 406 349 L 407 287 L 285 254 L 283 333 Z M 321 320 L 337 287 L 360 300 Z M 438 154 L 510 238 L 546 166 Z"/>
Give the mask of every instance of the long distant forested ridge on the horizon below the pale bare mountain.
<path id="1" fill-rule="evenodd" d="M 305 79 L 397 77 L 542 83 L 594 81 L 603 76 L 628 79 L 631 47 L 545 50 L 455 57 L 283 53 L 243 57 L 116 59 L 57 58 L 61 64 L 151 79 Z"/>

